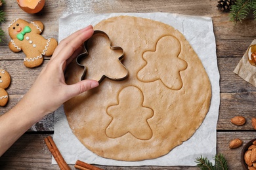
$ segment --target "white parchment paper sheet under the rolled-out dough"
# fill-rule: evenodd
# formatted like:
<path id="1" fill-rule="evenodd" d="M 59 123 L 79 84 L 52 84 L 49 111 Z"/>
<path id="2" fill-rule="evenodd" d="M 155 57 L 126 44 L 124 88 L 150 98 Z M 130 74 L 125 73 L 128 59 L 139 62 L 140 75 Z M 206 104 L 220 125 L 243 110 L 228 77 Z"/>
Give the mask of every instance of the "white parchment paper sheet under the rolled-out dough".
<path id="1" fill-rule="evenodd" d="M 219 116 L 220 88 L 219 70 L 217 68 L 216 44 L 211 18 L 184 16 L 169 13 L 125 13 L 125 14 L 72 14 L 59 20 L 59 41 L 89 24 L 95 25 L 101 20 L 112 16 L 129 15 L 150 18 L 169 24 L 186 37 L 202 60 L 212 86 L 211 107 L 200 128 L 188 141 L 177 146 L 169 154 L 154 160 L 116 161 L 97 156 L 81 144 L 68 126 L 62 107 L 55 113 L 54 141 L 64 160 L 74 164 L 76 160 L 100 165 L 196 165 L 196 158 L 202 156 L 213 161 L 216 154 L 216 126 Z M 95 122 L 96 123 L 96 122 Z M 56 161 L 53 158 L 53 163 Z"/>

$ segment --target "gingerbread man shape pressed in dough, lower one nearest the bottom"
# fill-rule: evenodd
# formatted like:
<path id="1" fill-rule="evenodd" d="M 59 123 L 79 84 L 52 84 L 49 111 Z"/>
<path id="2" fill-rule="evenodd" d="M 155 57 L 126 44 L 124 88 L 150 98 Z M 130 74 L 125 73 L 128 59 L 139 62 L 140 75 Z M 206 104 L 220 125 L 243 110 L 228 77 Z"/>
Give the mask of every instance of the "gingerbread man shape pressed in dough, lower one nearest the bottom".
<path id="1" fill-rule="evenodd" d="M 117 105 L 108 107 L 108 115 L 112 121 L 106 127 L 106 135 L 117 138 L 131 133 L 140 140 L 148 140 L 152 137 L 152 129 L 148 119 L 154 112 L 149 107 L 143 106 L 144 96 L 141 90 L 135 86 L 127 86 L 118 94 Z"/>

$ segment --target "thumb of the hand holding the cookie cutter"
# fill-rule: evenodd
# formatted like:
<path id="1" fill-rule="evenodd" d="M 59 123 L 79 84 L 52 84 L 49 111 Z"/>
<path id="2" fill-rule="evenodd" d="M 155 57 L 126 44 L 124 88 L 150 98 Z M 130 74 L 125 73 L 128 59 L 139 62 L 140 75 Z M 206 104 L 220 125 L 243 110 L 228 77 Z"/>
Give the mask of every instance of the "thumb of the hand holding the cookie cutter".
<path id="1" fill-rule="evenodd" d="M 98 82 L 96 80 L 82 80 L 81 82 L 68 86 L 68 97 L 75 97 L 75 95 L 79 95 L 80 93 L 96 88 L 97 86 Z"/>

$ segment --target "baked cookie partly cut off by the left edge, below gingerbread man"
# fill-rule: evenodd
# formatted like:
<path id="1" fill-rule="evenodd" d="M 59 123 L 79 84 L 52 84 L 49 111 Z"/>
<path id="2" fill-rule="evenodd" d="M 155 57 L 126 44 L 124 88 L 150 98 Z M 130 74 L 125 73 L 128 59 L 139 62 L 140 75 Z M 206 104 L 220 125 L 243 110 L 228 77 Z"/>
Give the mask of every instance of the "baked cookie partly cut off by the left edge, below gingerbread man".
<path id="1" fill-rule="evenodd" d="M 0 106 L 4 107 L 8 102 L 8 93 L 5 91 L 11 83 L 11 76 L 4 69 L 0 69 Z"/>

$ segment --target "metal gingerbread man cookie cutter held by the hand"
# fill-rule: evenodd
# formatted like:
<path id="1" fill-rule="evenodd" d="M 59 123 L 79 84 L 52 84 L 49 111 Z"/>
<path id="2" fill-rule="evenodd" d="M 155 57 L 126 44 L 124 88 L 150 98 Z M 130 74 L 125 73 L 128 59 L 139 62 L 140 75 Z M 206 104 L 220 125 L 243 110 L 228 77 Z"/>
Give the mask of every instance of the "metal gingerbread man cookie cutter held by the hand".
<path id="1" fill-rule="evenodd" d="M 93 35 L 95 34 L 102 34 L 102 35 L 105 35 L 109 42 L 110 42 L 110 49 L 111 50 L 122 50 L 122 54 L 121 56 L 118 58 L 119 60 L 119 63 L 121 63 L 121 60 L 124 58 L 124 51 L 123 51 L 123 48 L 121 48 L 121 46 L 111 46 L 111 41 L 110 41 L 110 37 L 108 37 L 108 35 L 104 32 L 104 31 L 100 31 L 100 30 L 95 30 Z M 81 67 L 83 67 L 83 75 L 81 76 L 81 80 L 83 80 L 83 78 L 85 78 L 85 75 L 86 75 L 86 72 L 87 72 L 87 67 L 83 64 L 80 63 L 80 61 L 85 58 L 86 56 L 89 55 L 89 52 L 87 51 L 87 42 L 89 40 L 83 42 L 83 46 L 85 48 L 85 52 L 83 52 L 82 54 L 79 54 L 79 56 L 77 56 L 76 58 L 76 62 L 78 65 L 80 65 Z M 123 65 L 123 63 L 121 63 L 121 65 Z M 102 75 L 100 80 L 98 80 L 98 83 L 102 82 L 102 80 L 104 80 L 104 78 L 109 78 L 110 80 L 114 80 L 114 81 L 121 81 L 121 80 L 124 80 L 125 78 L 127 78 L 128 76 L 128 69 L 123 65 L 123 67 L 126 69 L 126 75 L 123 76 L 123 77 L 118 77 L 118 78 L 112 78 L 112 77 L 109 77 L 109 76 L 106 76 L 106 75 Z"/>

